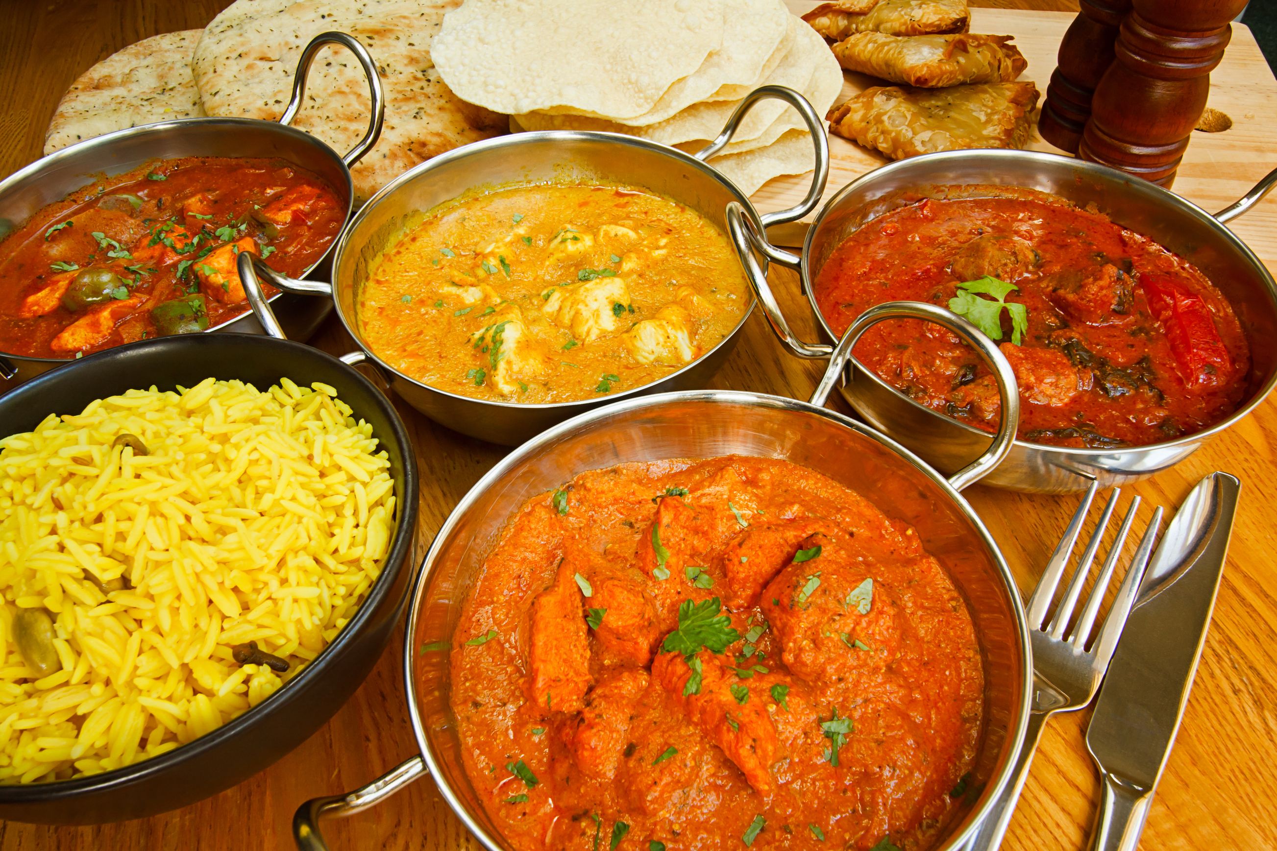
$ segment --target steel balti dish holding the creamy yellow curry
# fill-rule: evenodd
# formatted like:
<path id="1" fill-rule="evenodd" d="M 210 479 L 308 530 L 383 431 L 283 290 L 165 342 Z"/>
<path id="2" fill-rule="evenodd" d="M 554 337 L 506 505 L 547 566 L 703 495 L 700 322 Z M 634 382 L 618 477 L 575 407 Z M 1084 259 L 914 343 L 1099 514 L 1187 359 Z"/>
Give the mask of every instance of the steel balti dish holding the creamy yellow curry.
<path id="1" fill-rule="evenodd" d="M 760 216 L 750 199 L 705 159 L 723 149 L 750 107 L 764 98 L 779 98 L 803 116 L 815 140 L 815 172 L 802 203 Z M 355 305 L 369 267 L 402 233 L 406 222 L 458 195 L 484 186 L 512 182 L 598 180 L 604 184 L 642 186 L 700 212 L 727 230 L 724 211 L 736 204 L 760 228 L 792 222 L 816 208 L 829 176 L 829 139 L 820 116 L 793 89 L 765 85 L 746 97 L 728 119 L 723 133 L 706 148 L 687 154 L 677 148 L 614 133 L 541 131 L 518 133 L 469 144 L 400 175 L 374 195 L 338 237 L 332 264 L 332 283 L 295 281 L 268 269 L 249 256 L 240 258 L 240 278 L 254 310 L 267 327 L 273 322 L 261 302 L 258 276 L 290 293 L 323 296 L 337 309 L 346 330 L 364 356 L 378 364 L 389 384 L 409 404 L 450 429 L 501 444 L 517 444 L 544 429 L 628 396 L 705 387 L 730 353 L 741 327 L 753 305 L 718 346 L 681 370 L 656 381 L 613 393 L 599 399 L 520 404 L 457 396 L 412 379 L 373 353 L 361 333 Z M 254 272 L 255 270 L 255 272 Z"/>

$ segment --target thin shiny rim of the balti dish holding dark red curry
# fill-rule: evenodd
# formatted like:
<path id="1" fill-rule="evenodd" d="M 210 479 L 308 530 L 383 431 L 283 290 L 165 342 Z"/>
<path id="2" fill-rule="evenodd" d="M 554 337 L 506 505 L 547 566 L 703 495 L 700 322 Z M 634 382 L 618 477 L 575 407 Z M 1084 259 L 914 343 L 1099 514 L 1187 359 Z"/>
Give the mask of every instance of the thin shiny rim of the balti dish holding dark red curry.
<path id="1" fill-rule="evenodd" d="M 829 212 L 838 205 L 839 200 L 842 200 L 847 195 L 852 194 L 853 191 L 856 191 L 858 189 L 862 189 L 866 184 L 872 184 L 875 180 L 879 180 L 879 179 L 881 179 L 884 176 L 890 176 L 895 171 L 900 171 L 903 168 L 911 167 L 911 165 L 913 167 L 916 167 L 917 161 L 922 159 L 922 158 L 928 158 L 931 161 L 937 161 L 937 162 L 944 162 L 944 161 L 948 161 L 948 159 L 963 161 L 963 162 L 971 162 L 972 159 L 977 159 L 977 161 L 978 159 L 987 159 L 987 161 L 990 161 L 991 167 L 992 167 L 999 161 L 1006 159 L 1008 157 L 1023 158 L 1023 159 L 1028 159 L 1031 162 L 1041 162 L 1043 165 L 1047 165 L 1047 163 L 1059 163 L 1059 162 L 1062 161 L 1062 162 L 1069 163 L 1069 167 L 1075 168 L 1077 171 L 1079 171 L 1082 174 L 1089 174 L 1089 175 L 1102 176 L 1102 177 L 1106 177 L 1106 179 L 1120 176 L 1122 180 L 1125 180 L 1129 184 L 1133 184 L 1133 185 L 1145 185 L 1145 186 L 1152 188 L 1163 199 L 1165 203 L 1170 204 L 1171 207 L 1175 207 L 1180 214 L 1188 216 L 1190 218 L 1195 218 L 1195 219 L 1200 221 L 1202 223 L 1207 225 L 1208 227 L 1213 228 L 1216 232 L 1218 232 L 1234 249 L 1237 250 L 1239 254 L 1241 254 L 1241 256 L 1248 263 L 1250 263 L 1255 269 L 1258 269 L 1260 272 L 1262 279 L 1267 285 L 1269 292 L 1274 293 L 1274 300 L 1277 300 L 1277 281 L 1273 281 L 1272 273 L 1268 272 L 1268 267 L 1266 267 L 1264 263 L 1263 263 L 1263 260 L 1260 260 L 1259 256 L 1255 255 L 1255 253 L 1250 250 L 1250 246 L 1248 246 L 1245 242 L 1243 242 L 1237 237 L 1237 235 L 1234 233 L 1230 228 L 1225 227 L 1225 225 L 1218 218 L 1216 218 L 1211 213 L 1205 212 L 1204 209 L 1202 209 L 1200 207 L 1198 207 L 1193 202 L 1190 202 L 1190 200 L 1188 200 L 1188 199 L 1185 199 L 1185 198 L 1183 198 L 1180 195 L 1176 195 L 1175 193 L 1170 191 L 1168 189 L 1162 189 L 1161 186 L 1157 186 L 1154 184 L 1149 184 L 1149 182 L 1147 182 L 1147 181 L 1144 181 L 1144 180 L 1142 180 L 1139 177 L 1130 177 L 1128 175 L 1124 175 L 1120 171 L 1110 168 L 1108 166 L 1101 166 L 1099 163 L 1088 162 L 1085 159 L 1075 159 L 1073 157 L 1065 157 L 1065 156 L 1056 154 L 1056 153 L 1046 153 L 1046 152 L 1041 152 L 1041 151 L 944 151 L 944 152 L 939 152 L 939 153 L 922 154 L 922 157 L 914 157 L 912 159 L 900 159 L 898 162 L 893 162 L 893 163 L 886 165 L 886 166 L 882 166 L 881 168 L 875 168 L 873 171 L 866 172 L 865 175 L 861 175 L 856 180 L 850 181 L 849 184 L 847 184 L 845 186 L 843 186 L 842 189 L 839 189 L 821 207 L 820 213 L 816 216 L 816 218 L 811 223 L 811 227 L 807 230 L 807 239 L 803 241 L 803 248 L 802 248 L 802 259 L 803 259 L 803 263 L 802 263 L 802 265 L 799 268 L 799 274 L 802 276 L 802 288 L 803 288 L 803 292 L 807 296 L 807 304 L 811 306 L 811 313 L 812 313 L 812 315 L 815 315 L 816 323 L 820 325 L 820 329 L 821 329 L 821 333 L 824 334 L 824 337 L 826 339 L 834 341 L 835 343 L 838 342 L 838 334 L 835 334 L 834 329 L 829 327 L 829 323 L 825 320 L 824 314 L 820 313 L 820 307 L 816 305 L 816 292 L 815 292 L 815 287 L 812 286 L 812 281 L 811 281 L 811 267 L 808 265 L 807 262 L 811 258 L 811 246 L 812 246 L 812 242 L 813 242 L 813 237 L 816 236 L 816 232 L 820 230 L 820 226 L 825 222 L 825 218 L 829 214 Z M 1268 177 L 1266 177 L 1264 181 L 1262 181 L 1259 184 L 1259 186 L 1257 186 L 1257 189 L 1259 189 L 1260 186 L 1263 186 L 1264 188 L 1264 190 L 1263 190 L 1264 193 L 1268 189 L 1271 189 L 1272 188 L 1271 177 L 1273 177 L 1273 175 L 1269 175 Z M 1267 186 L 1266 186 L 1266 184 L 1267 184 Z M 1263 193 L 1260 193 L 1260 195 L 1262 194 Z M 1250 196 L 1250 195 L 1251 195 L 1251 193 L 1248 193 L 1248 196 Z M 1245 200 L 1245 199 L 1243 199 L 1243 200 Z M 1226 208 L 1222 212 L 1223 213 L 1230 213 L 1231 212 L 1228 214 L 1228 218 L 1234 218 L 1235 216 L 1237 216 L 1241 212 L 1244 212 L 1245 209 L 1248 209 L 1254 202 L 1250 202 L 1250 203 L 1245 204 L 1244 207 L 1241 207 L 1240 209 L 1237 209 L 1236 212 L 1232 212 L 1234 208 L 1239 207 L 1241 203 L 1243 202 L 1239 202 L 1237 204 L 1232 204 L 1232 205 L 1230 205 L 1228 208 Z M 940 420 L 945 420 L 948 422 L 951 422 L 954 426 L 958 426 L 958 427 L 965 430 L 968 434 L 981 435 L 981 436 L 990 436 L 988 431 L 985 431 L 982 429 L 977 429 L 977 427 L 974 427 L 972 425 L 962 422 L 960 420 L 954 420 L 953 417 L 946 417 L 945 415 L 939 413 L 936 411 L 932 411 L 931 408 L 926 407 L 925 404 L 919 404 L 914 399 L 911 399 L 908 396 L 905 396 L 904 393 L 902 393 L 900 390 L 895 389 L 894 387 L 891 387 L 890 384 L 888 384 L 885 380 L 882 380 L 881 378 L 879 378 L 877 374 L 875 374 L 873 371 L 866 369 L 865 365 L 861 364 L 854 357 L 852 359 L 852 364 L 854 364 L 854 367 L 857 370 L 857 380 L 859 380 L 859 378 L 863 376 L 865 379 L 875 383 L 876 385 L 881 387 L 882 389 L 889 390 L 890 393 L 894 393 L 899 399 L 902 399 L 904 402 L 908 402 L 911 406 L 913 406 L 918 411 L 925 412 L 925 413 L 927 413 L 927 415 L 930 415 L 932 417 L 937 417 Z M 1272 392 L 1273 387 L 1277 387 L 1277 374 L 1274 374 L 1272 378 L 1269 378 L 1268 381 L 1266 381 L 1263 384 L 1263 387 L 1260 387 L 1255 392 L 1255 394 L 1251 397 L 1251 399 L 1249 402 L 1246 402 L 1244 406 L 1241 406 L 1240 408 L 1237 408 L 1236 411 L 1234 411 L 1226 420 L 1221 420 L 1220 422 L 1214 424 L 1213 426 L 1211 426 L 1208 429 L 1203 429 L 1200 431 L 1194 431 L 1193 434 L 1176 438 L 1175 440 L 1165 440 L 1162 443 L 1149 443 L 1149 444 L 1143 444 L 1143 445 L 1139 445 L 1139 447 L 1119 447 L 1119 448 L 1115 448 L 1115 449 L 1105 449 L 1103 454 L 1105 454 L 1105 457 L 1114 457 L 1114 455 L 1120 457 L 1120 455 L 1126 455 L 1126 454 L 1140 453 L 1140 452 L 1144 452 L 1144 450 L 1148 450 L 1148 449 L 1174 449 L 1174 448 L 1177 448 L 1177 447 L 1183 447 L 1185 444 L 1200 443 L 1202 440 L 1204 440 L 1207 438 L 1211 438 L 1211 436 L 1213 436 L 1213 435 L 1223 431 L 1225 429 L 1227 429 L 1232 424 L 1237 422 L 1239 420 L 1245 418 L 1251 411 L 1254 411 L 1257 407 L 1259 407 L 1259 404 L 1263 403 L 1263 401 L 1266 398 L 1268 398 L 1268 394 Z M 1060 453 L 1062 455 L 1078 455 L 1078 457 L 1093 457 L 1096 454 L 1096 452 L 1097 452 L 1096 449 L 1091 449 L 1091 448 L 1087 448 L 1087 447 L 1056 447 L 1056 445 L 1052 445 L 1052 444 L 1029 443 L 1028 440 L 1019 440 L 1019 439 L 1016 439 L 1013 445 L 1016 447 L 1016 448 L 1023 448 L 1023 449 L 1041 449 L 1041 450 L 1047 450 L 1047 452 L 1051 452 L 1051 453 Z"/>

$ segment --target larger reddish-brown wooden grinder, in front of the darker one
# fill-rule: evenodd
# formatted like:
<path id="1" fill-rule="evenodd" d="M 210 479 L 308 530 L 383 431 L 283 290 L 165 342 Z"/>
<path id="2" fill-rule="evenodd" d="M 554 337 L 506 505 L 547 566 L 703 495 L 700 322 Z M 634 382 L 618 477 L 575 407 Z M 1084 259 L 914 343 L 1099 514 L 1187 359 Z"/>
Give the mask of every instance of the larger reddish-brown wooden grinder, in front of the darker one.
<path id="1" fill-rule="evenodd" d="M 1078 156 L 1170 186 L 1246 0 L 1133 0 Z"/>

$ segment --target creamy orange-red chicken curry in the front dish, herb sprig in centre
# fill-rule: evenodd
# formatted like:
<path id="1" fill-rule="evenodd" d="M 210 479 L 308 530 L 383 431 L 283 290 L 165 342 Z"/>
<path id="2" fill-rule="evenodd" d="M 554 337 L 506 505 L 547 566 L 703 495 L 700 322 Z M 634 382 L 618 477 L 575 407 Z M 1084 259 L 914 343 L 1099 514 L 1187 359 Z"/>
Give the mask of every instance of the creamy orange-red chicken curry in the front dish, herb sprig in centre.
<path id="1" fill-rule="evenodd" d="M 981 731 L 949 575 L 784 461 L 622 464 L 531 499 L 451 653 L 466 772 L 520 851 L 926 848 Z"/>

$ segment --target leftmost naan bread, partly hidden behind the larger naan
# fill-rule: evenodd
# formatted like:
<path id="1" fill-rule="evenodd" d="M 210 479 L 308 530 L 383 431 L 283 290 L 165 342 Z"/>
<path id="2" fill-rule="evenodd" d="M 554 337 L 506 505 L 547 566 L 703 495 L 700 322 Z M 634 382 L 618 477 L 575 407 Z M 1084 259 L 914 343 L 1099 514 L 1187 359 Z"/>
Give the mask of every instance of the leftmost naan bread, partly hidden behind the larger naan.
<path id="1" fill-rule="evenodd" d="M 202 32 L 143 38 L 80 74 L 54 111 L 45 153 L 139 124 L 203 115 L 190 73 Z"/>

